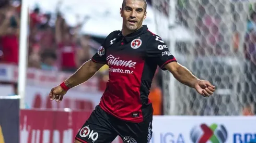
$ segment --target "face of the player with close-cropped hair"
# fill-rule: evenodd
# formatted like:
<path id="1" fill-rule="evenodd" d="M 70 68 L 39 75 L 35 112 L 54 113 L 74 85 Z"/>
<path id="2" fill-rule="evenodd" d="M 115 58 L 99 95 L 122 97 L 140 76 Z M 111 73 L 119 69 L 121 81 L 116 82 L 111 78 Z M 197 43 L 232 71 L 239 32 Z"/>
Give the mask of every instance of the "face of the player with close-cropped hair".
<path id="1" fill-rule="evenodd" d="M 123 26 L 125 26 L 127 30 L 134 31 L 141 28 L 142 22 L 146 18 L 144 5 L 143 1 L 127 0 L 126 5 L 120 8 Z"/>

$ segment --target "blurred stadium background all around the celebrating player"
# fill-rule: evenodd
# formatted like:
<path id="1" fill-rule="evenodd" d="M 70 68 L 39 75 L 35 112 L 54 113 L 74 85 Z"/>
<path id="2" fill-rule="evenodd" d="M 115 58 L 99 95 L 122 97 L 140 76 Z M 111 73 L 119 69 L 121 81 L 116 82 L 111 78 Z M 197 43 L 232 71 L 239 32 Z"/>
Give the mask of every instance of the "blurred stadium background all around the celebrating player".
<path id="1" fill-rule="evenodd" d="M 50 102 L 48 93 L 90 59 L 104 37 L 121 29 L 122 2 L 29 1 L 25 109 L 18 113 L 14 100 L 18 100 L 22 36 L 20 2 L 0 2 L 0 142 L 17 142 L 10 141 L 14 138 L 22 143 L 72 142 L 99 102 L 108 67 L 70 90 L 61 103 Z M 180 63 L 217 86 L 213 97 L 203 98 L 158 70 L 149 95 L 155 115 L 151 142 L 199 142 L 206 133 L 211 137 L 204 142 L 256 139 L 255 4 L 222 0 L 148 4 L 144 24 L 168 43 Z"/>

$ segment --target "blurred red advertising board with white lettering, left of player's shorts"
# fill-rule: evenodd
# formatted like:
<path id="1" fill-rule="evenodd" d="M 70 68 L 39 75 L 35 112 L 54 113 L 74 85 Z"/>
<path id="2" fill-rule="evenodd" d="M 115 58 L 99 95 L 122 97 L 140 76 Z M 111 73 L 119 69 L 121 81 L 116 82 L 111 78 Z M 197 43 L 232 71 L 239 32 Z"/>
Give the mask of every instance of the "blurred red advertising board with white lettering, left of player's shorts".
<path id="1" fill-rule="evenodd" d="M 20 143 L 73 143 L 91 112 L 21 110 Z M 122 142 L 119 138 L 113 143 Z"/>

